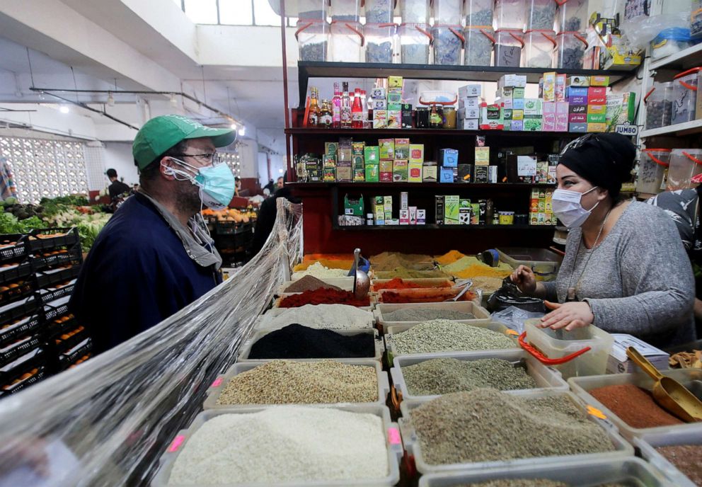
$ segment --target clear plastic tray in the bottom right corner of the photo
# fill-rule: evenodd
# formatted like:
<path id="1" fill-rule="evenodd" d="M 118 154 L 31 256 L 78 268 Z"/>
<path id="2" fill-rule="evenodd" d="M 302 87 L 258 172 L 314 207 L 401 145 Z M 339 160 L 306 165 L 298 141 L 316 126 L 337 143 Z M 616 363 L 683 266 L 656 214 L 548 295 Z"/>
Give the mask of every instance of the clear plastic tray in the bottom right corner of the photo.
<path id="1" fill-rule="evenodd" d="M 675 487 L 696 487 L 677 466 L 669 462 L 662 454 L 658 453 L 657 447 L 670 447 L 675 445 L 700 445 L 702 449 L 702 435 L 699 430 L 685 429 L 674 432 L 655 432 L 632 440 L 634 447 L 639 449 L 641 457 L 647 460 L 652 466 L 662 472 L 662 474 L 672 481 Z"/>

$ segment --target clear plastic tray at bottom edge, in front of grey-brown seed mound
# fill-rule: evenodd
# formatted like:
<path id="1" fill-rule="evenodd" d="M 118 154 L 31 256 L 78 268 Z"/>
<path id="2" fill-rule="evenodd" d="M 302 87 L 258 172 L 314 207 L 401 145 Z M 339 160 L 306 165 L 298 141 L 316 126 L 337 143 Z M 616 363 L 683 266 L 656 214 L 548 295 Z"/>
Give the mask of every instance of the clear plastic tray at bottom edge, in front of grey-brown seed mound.
<path id="1" fill-rule="evenodd" d="M 422 475 L 419 487 L 453 487 L 502 479 L 548 479 L 572 487 L 592 487 L 623 483 L 635 487 L 672 487 L 655 468 L 635 457 L 611 460 L 560 462 L 526 465 L 483 472 L 455 472 Z"/>

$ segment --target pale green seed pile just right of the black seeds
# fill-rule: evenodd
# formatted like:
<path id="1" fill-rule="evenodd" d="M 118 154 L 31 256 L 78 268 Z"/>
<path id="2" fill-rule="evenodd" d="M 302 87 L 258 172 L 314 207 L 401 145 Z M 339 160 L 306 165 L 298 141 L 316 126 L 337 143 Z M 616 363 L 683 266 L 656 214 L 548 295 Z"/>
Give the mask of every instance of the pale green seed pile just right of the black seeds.
<path id="1" fill-rule="evenodd" d="M 448 320 L 426 321 L 386 337 L 396 355 L 516 348 L 512 338 L 497 331 Z"/>

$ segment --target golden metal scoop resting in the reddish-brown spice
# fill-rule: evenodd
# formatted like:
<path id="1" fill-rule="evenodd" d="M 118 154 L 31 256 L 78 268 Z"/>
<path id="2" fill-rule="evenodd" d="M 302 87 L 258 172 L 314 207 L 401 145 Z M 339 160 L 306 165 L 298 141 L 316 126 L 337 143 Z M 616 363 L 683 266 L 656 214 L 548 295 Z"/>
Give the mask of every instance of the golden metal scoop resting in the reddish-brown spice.
<path id="1" fill-rule="evenodd" d="M 674 414 L 686 423 L 702 420 L 702 402 L 697 399 L 685 386 L 675 379 L 665 377 L 658 369 L 633 347 L 626 349 L 626 356 L 643 369 L 643 372 L 655 380 L 653 384 L 653 399 L 669 413 Z"/>

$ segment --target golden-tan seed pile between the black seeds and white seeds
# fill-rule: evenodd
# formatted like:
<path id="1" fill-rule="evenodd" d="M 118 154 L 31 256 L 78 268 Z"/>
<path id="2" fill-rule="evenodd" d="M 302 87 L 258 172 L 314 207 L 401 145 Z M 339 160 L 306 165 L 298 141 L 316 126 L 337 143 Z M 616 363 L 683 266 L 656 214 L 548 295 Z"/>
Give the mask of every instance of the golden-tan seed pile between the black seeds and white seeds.
<path id="1" fill-rule="evenodd" d="M 272 360 L 237 374 L 217 404 L 369 403 L 378 400 L 374 367 L 333 360 Z"/>

